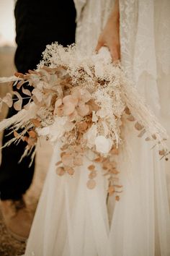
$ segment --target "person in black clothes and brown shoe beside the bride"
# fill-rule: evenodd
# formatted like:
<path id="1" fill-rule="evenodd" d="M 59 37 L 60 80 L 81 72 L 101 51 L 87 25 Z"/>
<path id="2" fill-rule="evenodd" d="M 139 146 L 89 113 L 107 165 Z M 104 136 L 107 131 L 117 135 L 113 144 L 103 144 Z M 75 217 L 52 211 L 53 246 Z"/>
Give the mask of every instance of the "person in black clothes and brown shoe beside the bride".
<path id="1" fill-rule="evenodd" d="M 46 45 L 58 41 L 68 46 L 75 41 L 73 0 L 17 0 L 14 16 L 17 33 L 14 63 L 18 72 L 36 69 Z M 15 113 L 10 108 L 7 117 Z M 8 134 L 6 130 L 3 145 L 13 136 Z M 19 163 L 24 147 L 24 142 L 19 142 L 3 148 L 0 166 L 1 211 L 7 228 L 20 240 L 26 239 L 30 232 L 32 216 L 22 196 L 30 187 L 35 168 L 35 162 L 29 168 L 30 156 Z"/>

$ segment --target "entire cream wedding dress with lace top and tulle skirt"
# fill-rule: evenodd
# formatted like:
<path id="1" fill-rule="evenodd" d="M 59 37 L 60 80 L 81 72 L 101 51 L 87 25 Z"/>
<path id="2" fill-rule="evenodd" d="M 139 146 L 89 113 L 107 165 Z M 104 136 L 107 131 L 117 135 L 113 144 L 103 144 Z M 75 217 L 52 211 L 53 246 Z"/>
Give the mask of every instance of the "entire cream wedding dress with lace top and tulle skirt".
<path id="1" fill-rule="evenodd" d="M 112 0 L 75 0 L 76 42 L 91 54 Z M 120 0 L 121 62 L 155 114 L 169 127 L 170 1 Z M 58 176 L 55 147 L 27 242 L 26 256 L 169 256 L 170 216 L 164 161 L 138 138 L 132 124 L 117 157 L 123 192 L 109 198 L 98 168 L 97 187 L 86 188 L 90 155 L 72 176 Z"/>

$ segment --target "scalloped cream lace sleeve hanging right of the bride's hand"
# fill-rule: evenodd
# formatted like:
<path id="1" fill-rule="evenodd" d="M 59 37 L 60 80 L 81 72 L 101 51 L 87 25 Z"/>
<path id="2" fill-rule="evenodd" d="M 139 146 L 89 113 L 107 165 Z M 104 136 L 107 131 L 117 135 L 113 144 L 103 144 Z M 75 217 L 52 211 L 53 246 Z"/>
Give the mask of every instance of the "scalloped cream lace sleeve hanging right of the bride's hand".
<path id="1" fill-rule="evenodd" d="M 120 0 L 121 59 L 135 82 L 143 72 L 156 78 L 158 67 L 170 71 L 169 9 L 169 0 Z"/>

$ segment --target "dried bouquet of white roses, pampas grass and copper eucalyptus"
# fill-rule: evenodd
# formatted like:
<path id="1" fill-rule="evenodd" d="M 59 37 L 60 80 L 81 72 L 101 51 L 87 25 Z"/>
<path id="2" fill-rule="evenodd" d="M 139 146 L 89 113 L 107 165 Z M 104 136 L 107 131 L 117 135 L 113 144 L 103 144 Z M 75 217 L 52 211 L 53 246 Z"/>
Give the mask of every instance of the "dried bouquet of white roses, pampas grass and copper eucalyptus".
<path id="1" fill-rule="evenodd" d="M 22 158 L 31 153 L 33 160 L 40 137 L 54 145 L 60 140 L 61 161 L 56 163 L 56 172 L 59 176 L 72 176 L 76 167 L 83 165 L 88 150 L 94 158 L 88 167 L 87 187 L 96 186 L 95 163 L 100 163 L 104 175 L 108 176 L 108 194 L 115 193 L 116 200 L 120 198 L 122 186 L 117 179 L 115 155 L 124 143 L 122 129 L 128 121 L 134 122 L 138 137 L 153 140 L 161 158 L 168 160 L 166 131 L 120 64 L 112 63 L 106 48 L 99 54 L 82 56 L 75 45 L 63 48 L 53 43 L 47 46 L 36 70 L 1 78 L 1 82 L 9 81 L 14 81 L 29 101 L 22 106 L 23 97 L 17 91 L 13 92 L 17 101 L 7 93 L 0 106 L 3 103 L 14 106 L 18 113 L 1 121 L 0 130 L 10 128 L 14 132 L 14 138 L 4 146 L 20 140 L 27 142 Z M 25 88 L 25 83 L 32 90 Z"/>

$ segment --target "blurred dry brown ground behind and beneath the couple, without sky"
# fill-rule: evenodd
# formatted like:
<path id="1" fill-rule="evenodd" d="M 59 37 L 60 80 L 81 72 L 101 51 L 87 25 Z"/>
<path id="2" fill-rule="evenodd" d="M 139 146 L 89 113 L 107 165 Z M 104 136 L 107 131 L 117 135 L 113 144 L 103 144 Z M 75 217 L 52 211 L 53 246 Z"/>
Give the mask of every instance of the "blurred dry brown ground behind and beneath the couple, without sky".
<path id="1" fill-rule="evenodd" d="M 13 59 L 14 49 L 6 48 L 3 51 L 0 49 L 0 77 L 7 77 L 14 74 Z M 0 97 L 3 97 L 9 90 L 11 90 L 9 85 L 1 84 Z M 7 108 L 3 108 L 0 119 L 4 118 L 6 112 Z M 32 213 L 35 213 L 52 152 L 51 145 L 46 141 L 42 141 L 37 150 L 35 176 L 30 189 L 27 191 L 27 195 L 25 195 L 25 200 Z M 7 231 L 0 210 L 0 256 L 22 255 L 24 248 L 25 243 L 18 242 Z"/>

